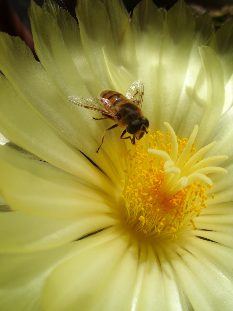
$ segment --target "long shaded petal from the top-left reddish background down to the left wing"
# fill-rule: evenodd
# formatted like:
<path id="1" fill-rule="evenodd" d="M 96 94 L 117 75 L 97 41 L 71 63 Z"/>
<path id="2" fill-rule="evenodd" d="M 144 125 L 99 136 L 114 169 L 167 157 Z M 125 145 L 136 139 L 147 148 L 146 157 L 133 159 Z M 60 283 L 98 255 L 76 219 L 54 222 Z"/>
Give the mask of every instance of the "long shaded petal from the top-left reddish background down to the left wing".
<path id="1" fill-rule="evenodd" d="M 43 11 L 34 1 L 31 2 L 29 16 L 35 51 L 58 91 L 64 97 L 75 92 L 87 94 L 85 83 L 66 48 L 61 30 L 53 16 Z"/>

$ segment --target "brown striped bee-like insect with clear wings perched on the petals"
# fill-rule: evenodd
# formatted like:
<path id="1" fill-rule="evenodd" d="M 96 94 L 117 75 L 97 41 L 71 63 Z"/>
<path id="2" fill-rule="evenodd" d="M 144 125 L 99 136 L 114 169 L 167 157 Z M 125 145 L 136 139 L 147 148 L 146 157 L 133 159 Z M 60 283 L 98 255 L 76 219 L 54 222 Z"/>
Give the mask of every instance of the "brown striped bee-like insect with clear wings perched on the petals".
<path id="1" fill-rule="evenodd" d="M 96 151 L 98 153 L 106 132 L 113 128 L 118 126 L 126 128 L 122 132 L 120 139 L 130 139 L 132 145 L 135 145 L 135 138 L 141 139 L 145 132 L 148 133 L 149 121 L 144 118 L 141 111 L 143 94 L 144 86 L 142 82 L 135 81 L 126 92 L 126 96 L 116 91 L 105 90 L 100 93 L 98 98 L 69 96 L 68 99 L 75 105 L 102 114 L 103 118 L 92 117 L 93 120 L 110 119 L 116 123 L 104 131 L 102 142 Z M 131 136 L 123 137 L 126 132 L 133 135 L 133 138 Z"/>

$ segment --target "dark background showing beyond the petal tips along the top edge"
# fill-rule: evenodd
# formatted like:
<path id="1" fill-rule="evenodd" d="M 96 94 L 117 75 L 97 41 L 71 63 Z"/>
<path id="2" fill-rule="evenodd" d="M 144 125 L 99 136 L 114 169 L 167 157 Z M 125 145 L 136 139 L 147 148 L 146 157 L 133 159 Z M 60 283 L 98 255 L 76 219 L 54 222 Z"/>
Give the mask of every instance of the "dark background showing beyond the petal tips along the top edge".
<path id="1" fill-rule="evenodd" d="M 43 0 L 34 0 L 39 6 L 42 6 Z M 46 0 L 45 0 L 46 1 Z M 67 11 L 75 17 L 75 6 L 77 0 L 55 0 L 60 7 L 66 8 Z M 82 0 L 80 0 L 82 1 Z M 115 1 L 115 0 L 112 0 Z M 169 10 L 178 0 L 153 0 L 157 7 L 163 7 Z M 134 7 L 140 0 L 123 0 L 126 10 L 133 14 Z M 223 23 L 230 20 L 233 16 L 233 0 L 185 0 L 192 8 L 194 17 L 208 10 L 212 16 L 213 25 L 218 29 Z M 226 6 L 224 8 L 224 6 Z M 19 36 L 33 51 L 33 38 L 31 35 L 30 21 L 27 15 L 30 7 L 30 0 L 0 0 L 0 31 L 7 32 L 13 36 Z M 225 12 L 224 14 L 221 13 Z M 197 12 L 197 13 L 196 13 Z M 220 13 L 219 13 L 220 12 Z M 217 16 L 217 17 L 216 17 Z"/>

